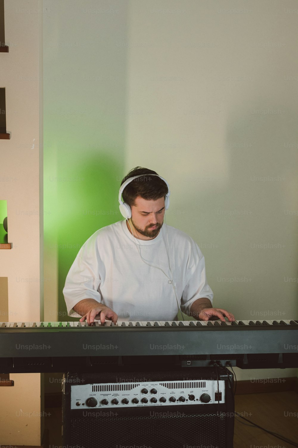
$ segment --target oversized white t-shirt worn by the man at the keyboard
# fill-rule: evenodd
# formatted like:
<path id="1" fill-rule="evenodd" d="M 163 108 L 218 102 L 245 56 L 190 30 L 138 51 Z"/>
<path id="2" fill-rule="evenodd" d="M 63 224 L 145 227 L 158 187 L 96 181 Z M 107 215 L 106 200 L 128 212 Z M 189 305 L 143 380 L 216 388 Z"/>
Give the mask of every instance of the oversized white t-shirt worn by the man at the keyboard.
<path id="1" fill-rule="evenodd" d="M 166 275 L 144 263 L 139 250 L 147 263 Z M 118 314 L 118 321 L 176 320 L 172 279 L 186 314 L 200 297 L 212 303 L 205 259 L 191 237 L 163 224 L 154 239 L 134 239 L 126 220 L 118 221 L 93 233 L 77 254 L 63 289 L 67 312 L 81 317 L 73 306 L 92 298 Z"/>

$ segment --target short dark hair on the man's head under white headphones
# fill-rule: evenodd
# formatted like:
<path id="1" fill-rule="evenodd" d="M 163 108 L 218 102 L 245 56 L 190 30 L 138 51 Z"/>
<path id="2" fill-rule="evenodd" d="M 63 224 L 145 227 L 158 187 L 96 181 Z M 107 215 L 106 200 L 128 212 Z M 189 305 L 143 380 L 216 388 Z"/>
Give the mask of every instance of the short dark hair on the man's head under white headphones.
<path id="1" fill-rule="evenodd" d="M 130 177 L 146 174 L 146 176 L 137 177 L 126 185 L 122 192 L 123 201 L 130 207 L 134 204 L 135 198 L 141 196 L 143 199 L 154 200 L 166 196 L 168 193 L 167 184 L 158 176 L 150 176 L 150 174 L 157 174 L 148 168 L 135 167 L 122 179 L 121 185 Z"/>

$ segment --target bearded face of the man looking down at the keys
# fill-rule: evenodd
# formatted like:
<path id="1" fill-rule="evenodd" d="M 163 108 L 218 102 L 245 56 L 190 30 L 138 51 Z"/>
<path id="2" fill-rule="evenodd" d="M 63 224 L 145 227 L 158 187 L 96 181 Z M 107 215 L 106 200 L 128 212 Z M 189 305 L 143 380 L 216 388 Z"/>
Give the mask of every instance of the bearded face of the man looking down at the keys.
<path id="1" fill-rule="evenodd" d="M 156 199 L 156 201 L 141 198 L 138 196 L 135 205 L 131 207 L 131 222 L 134 228 L 150 240 L 155 238 L 164 221 L 164 197 Z"/>

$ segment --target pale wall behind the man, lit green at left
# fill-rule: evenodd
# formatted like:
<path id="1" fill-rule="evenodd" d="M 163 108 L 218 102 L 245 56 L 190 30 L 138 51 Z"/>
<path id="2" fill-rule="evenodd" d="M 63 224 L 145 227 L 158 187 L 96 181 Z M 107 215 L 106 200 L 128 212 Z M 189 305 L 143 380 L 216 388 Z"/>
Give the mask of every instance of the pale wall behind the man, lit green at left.
<path id="1" fill-rule="evenodd" d="M 200 246 L 214 306 L 297 317 L 296 2 L 45 4 L 47 319 L 66 317 L 67 271 L 121 219 L 120 181 L 138 165 L 169 182 L 167 223 Z"/>

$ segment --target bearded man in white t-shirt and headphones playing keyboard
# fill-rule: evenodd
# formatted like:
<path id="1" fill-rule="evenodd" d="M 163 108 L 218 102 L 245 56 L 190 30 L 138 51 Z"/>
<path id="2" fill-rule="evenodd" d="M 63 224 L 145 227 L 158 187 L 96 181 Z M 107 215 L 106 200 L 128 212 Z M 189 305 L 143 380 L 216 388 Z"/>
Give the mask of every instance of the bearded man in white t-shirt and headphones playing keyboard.
<path id="1" fill-rule="evenodd" d="M 119 208 L 126 220 L 101 228 L 81 247 L 63 289 L 68 314 L 82 316 L 80 322 L 89 325 L 94 319 L 176 320 L 179 308 L 197 320 L 235 320 L 212 307 L 197 244 L 184 232 L 163 226 L 167 181 L 136 167 L 121 185 Z"/>

